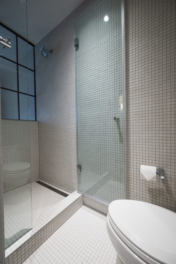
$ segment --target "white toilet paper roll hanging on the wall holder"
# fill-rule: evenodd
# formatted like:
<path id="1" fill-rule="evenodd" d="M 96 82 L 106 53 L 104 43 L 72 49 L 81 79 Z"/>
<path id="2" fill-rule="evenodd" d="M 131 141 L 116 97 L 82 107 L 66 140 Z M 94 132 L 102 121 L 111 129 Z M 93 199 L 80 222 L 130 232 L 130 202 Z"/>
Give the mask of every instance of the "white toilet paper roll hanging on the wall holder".
<path id="1" fill-rule="evenodd" d="M 156 167 L 141 165 L 140 166 L 140 178 L 147 181 L 156 181 Z"/>

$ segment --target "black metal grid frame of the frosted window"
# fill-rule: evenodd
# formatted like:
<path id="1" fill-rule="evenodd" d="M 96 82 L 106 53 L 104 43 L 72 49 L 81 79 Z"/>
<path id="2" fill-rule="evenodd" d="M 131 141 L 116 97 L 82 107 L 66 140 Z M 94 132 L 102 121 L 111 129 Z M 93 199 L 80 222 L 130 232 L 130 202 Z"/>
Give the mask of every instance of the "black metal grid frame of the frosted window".
<path id="1" fill-rule="evenodd" d="M 20 119 L 20 93 L 21 94 L 25 94 L 25 95 L 30 95 L 30 96 L 33 96 L 35 98 L 35 120 L 37 120 L 37 115 L 36 115 L 36 74 L 35 74 L 35 46 L 34 44 L 32 44 L 31 42 L 29 42 L 28 40 L 26 40 L 25 38 L 23 38 L 22 36 L 20 36 L 18 33 L 16 33 L 15 31 L 13 31 L 12 29 L 8 28 L 6 25 L 4 25 L 3 23 L 0 22 L 0 25 L 2 27 L 4 27 L 5 29 L 9 30 L 10 32 L 12 32 L 14 35 L 16 35 L 16 54 L 17 54 L 17 62 L 9 59 L 9 58 L 6 58 L 2 55 L 0 55 L 1 58 L 3 59 L 6 59 L 12 63 L 15 63 L 17 65 L 17 91 L 16 90 L 12 90 L 12 89 L 8 89 L 8 88 L 5 88 L 5 87 L 2 87 L 1 86 L 1 89 L 4 89 L 4 90 L 8 90 L 8 91 L 13 91 L 13 92 L 17 92 L 18 93 L 18 119 L 13 119 L 13 120 L 23 120 L 23 119 Z M 34 70 L 20 64 L 18 62 L 18 37 L 21 38 L 22 40 L 26 41 L 28 44 L 30 44 L 31 46 L 34 47 Z M 29 93 L 24 93 L 24 92 L 20 92 L 19 90 L 19 66 L 22 66 L 32 72 L 34 72 L 34 95 L 33 94 L 29 94 Z M 6 119 L 6 118 L 2 118 L 2 119 Z M 25 119 L 26 120 L 26 119 Z"/>

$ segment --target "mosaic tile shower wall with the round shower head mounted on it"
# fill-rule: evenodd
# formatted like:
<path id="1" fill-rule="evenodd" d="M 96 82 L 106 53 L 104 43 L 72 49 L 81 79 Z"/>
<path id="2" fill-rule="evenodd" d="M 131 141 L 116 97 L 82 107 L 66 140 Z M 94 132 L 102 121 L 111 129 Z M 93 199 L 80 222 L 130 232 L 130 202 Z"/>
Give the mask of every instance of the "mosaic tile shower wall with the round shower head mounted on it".
<path id="1" fill-rule="evenodd" d="M 76 190 L 74 30 L 69 16 L 36 45 L 40 179 Z M 44 59 L 40 48 L 52 48 Z"/>

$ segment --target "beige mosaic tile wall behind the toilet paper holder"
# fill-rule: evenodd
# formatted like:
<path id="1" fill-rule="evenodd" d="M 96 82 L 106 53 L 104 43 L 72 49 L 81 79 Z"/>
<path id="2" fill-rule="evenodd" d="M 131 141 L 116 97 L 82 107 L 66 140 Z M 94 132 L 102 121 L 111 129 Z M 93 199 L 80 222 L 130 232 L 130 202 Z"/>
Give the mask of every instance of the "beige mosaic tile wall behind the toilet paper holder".
<path id="1" fill-rule="evenodd" d="M 175 0 L 126 0 L 127 198 L 176 210 Z M 166 179 L 139 177 L 141 164 Z"/>

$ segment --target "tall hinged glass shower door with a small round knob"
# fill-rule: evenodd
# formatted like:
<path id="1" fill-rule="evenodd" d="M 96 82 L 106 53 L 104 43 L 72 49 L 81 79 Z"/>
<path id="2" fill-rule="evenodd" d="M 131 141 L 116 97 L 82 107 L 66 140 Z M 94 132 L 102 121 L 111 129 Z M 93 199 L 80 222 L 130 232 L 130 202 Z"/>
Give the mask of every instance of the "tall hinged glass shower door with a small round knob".
<path id="1" fill-rule="evenodd" d="M 122 6 L 95 2 L 75 25 L 78 192 L 124 198 Z"/>

